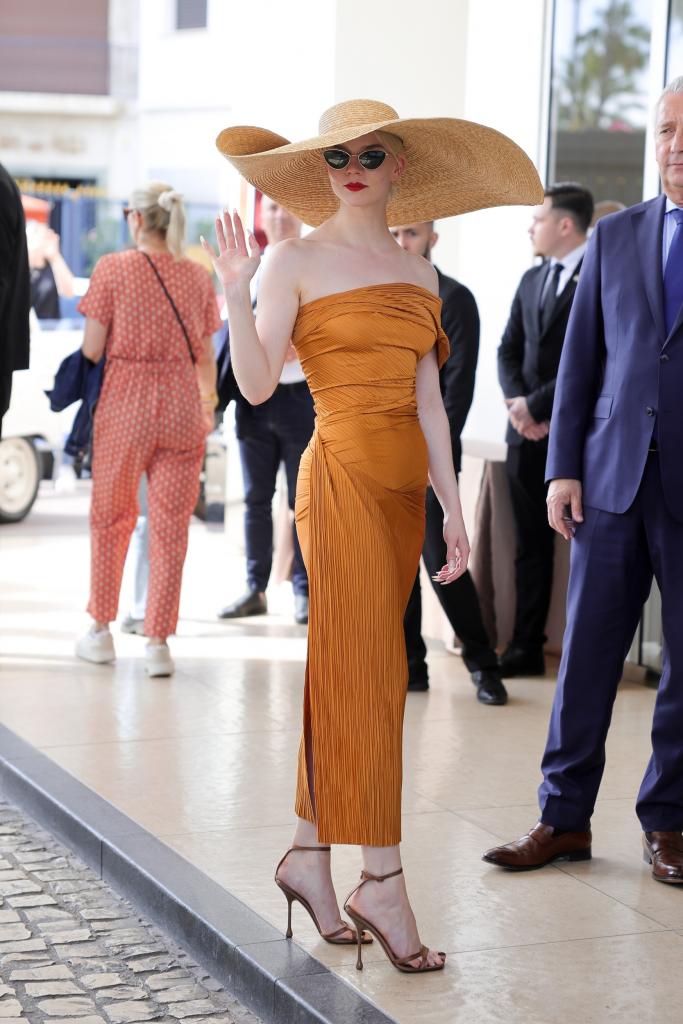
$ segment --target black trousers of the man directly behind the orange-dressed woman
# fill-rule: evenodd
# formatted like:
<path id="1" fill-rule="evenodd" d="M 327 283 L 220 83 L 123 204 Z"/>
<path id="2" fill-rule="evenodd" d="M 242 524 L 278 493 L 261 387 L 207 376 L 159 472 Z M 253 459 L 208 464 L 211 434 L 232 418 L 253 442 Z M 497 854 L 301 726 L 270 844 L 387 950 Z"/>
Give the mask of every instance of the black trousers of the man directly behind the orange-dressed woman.
<path id="1" fill-rule="evenodd" d="M 445 565 L 447 560 L 443 540 L 443 511 L 431 487 L 427 488 L 426 513 L 422 557 L 431 579 L 442 565 Z M 479 598 L 470 573 L 463 573 L 459 580 L 446 587 L 442 587 L 438 583 L 432 583 L 432 586 L 454 632 L 462 641 L 463 659 L 468 670 L 477 672 L 497 669 L 498 659 L 481 618 Z M 409 678 L 412 682 L 426 680 L 425 656 L 427 648 L 422 639 L 422 594 L 419 572 L 408 601 L 405 617 L 403 618 L 403 632 L 408 651 Z"/>

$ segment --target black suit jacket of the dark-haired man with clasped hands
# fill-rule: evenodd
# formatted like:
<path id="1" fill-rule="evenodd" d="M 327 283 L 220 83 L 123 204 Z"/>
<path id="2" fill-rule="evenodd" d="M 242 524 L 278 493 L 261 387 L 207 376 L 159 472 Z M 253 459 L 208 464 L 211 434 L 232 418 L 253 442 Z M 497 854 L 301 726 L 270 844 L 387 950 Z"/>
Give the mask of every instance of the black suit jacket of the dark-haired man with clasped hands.
<path id="1" fill-rule="evenodd" d="M 527 270 L 512 301 L 510 318 L 498 349 L 498 377 L 506 398 L 524 395 L 538 423 L 550 420 L 555 397 L 555 380 L 560 365 L 564 335 L 577 291 L 581 263 L 560 293 L 553 315 L 541 330 L 541 293 L 548 264 Z M 524 438 L 508 423 L 508 444 Z"/>

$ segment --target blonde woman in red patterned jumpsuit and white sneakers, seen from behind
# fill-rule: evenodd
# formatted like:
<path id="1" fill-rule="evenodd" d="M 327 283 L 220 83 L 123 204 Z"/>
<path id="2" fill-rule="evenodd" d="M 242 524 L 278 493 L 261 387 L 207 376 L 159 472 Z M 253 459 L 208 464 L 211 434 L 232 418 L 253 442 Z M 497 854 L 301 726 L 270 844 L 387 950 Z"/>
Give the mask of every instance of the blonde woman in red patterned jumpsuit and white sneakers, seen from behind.
<path id="1" fill-rule="evenodd" d="M 189 518 L 205 438 L 213 429 L 220 318 L 210 275 L 182 257 L 182 197 L 162 182 L 135 190 L 126 217 L 133 249 L 103 256 L 79 308 L 84 355 L 106 355 L 95 413 L 90 510 L 93 624 L 76 652 L 115 659 L 116 618 L 137 490 L 148 483 L 150 591 L 145 666 L 169 676 L 166 643 L 175 631 Z M 174 307 L 175 306 L 175 310 Z M 177 314 L 176 314 L 177 310 Z"/>

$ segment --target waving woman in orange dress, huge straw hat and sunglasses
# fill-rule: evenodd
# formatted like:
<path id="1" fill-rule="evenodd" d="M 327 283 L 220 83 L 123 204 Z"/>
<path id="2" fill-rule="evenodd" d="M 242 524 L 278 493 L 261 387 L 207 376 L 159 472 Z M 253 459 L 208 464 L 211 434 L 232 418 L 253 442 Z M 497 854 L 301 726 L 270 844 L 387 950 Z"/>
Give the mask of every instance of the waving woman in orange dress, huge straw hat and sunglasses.
<path id="1" fill-rule="evenodd" d="M 408 680 L 402 621 L 422 549 L 425 492 L 444 512 L 447 563 L 467 565 L 467 536 L 438 385 L 447 354 L 434 268 L 403 252 L 387 223 L 431 220 L 543 190 L 525 155 L 498 132 L 450 119 L 401 121 L 384 103 L 339 103 L 319 134 L 288 143 L 257 128 L 219 135 L 223 155 L 304 222 L 261 276 L 237 213 L 207 244 L 227 301 L 232 366 L 258 403 L 290 339 L 315 402 L 296 521 L 310 587 L 309 640 L 294 844 L 275 882 L 328 941 L 374 935 L 400 971 L 440 970 L 420 942 L 400 866 L 401 734 Z M 342 921 L 330 845 L 361 847 L 360 884 Z"/>

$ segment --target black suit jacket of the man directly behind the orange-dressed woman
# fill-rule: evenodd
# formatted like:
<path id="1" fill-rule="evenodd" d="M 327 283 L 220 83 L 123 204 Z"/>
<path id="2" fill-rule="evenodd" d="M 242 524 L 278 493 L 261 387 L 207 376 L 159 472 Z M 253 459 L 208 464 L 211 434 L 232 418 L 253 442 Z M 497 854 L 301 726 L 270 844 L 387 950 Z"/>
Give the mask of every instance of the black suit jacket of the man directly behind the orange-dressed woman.
<path id="1" fill-rule="evenodd" d="M 441 367 L 439 381 L 451 425 L 453 464 L 459 473 L 462 458 L 460 435 L 472 404 L 479 354 L 479 311 L 468 288 L 441 273 L 438 267 L 435 270 L 441 300 L 441 327 L 451 342 L 451 354 Z"/>

